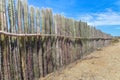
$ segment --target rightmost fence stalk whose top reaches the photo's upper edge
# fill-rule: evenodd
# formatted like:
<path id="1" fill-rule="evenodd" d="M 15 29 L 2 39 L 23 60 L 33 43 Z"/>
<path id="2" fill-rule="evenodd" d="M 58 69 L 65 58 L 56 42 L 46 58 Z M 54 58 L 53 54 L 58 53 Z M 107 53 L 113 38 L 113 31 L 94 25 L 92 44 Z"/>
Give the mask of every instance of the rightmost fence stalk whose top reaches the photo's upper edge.
<path id="1" fill-rule="evenodd" d="M 22 2 L 23 4 L 23 33 L 28 33 L 28 4 L 27 0 Z M 22 46 L 22 70 L 23 70 L 23 78 L 24 80 L 28 80 L 28 72 L 27 72 L 27 41 L 28 38 L 25 36 L 22 38 L 23 46 Z"/>

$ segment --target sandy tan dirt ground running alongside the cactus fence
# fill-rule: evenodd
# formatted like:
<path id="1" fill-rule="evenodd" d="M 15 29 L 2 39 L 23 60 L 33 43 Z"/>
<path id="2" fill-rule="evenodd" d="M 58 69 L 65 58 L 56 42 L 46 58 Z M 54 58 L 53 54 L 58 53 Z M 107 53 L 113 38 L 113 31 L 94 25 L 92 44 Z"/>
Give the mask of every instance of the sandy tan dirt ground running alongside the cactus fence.
<path id="1" fill-rule="evenodd" d="M 95 51 L 42 80 L 120 80 L 120 42 Z"/>

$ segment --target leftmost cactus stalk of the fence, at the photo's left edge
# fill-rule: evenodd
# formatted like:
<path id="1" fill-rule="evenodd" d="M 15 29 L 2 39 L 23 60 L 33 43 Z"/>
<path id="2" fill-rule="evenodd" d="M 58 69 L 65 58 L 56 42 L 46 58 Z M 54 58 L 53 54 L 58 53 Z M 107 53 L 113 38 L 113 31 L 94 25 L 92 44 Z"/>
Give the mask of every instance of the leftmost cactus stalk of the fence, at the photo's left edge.
<path id="1" fill-rule="evenodd" d="M 4 0 L 0 0 L 0 30 L 4 31 Z M 0 78 L 1 80 L 8 79 L 7 60 L 6 60 L 6 43 L 5 36 L 0 34 Z M 6 74 L 6 75 L 5 75 Z"/>

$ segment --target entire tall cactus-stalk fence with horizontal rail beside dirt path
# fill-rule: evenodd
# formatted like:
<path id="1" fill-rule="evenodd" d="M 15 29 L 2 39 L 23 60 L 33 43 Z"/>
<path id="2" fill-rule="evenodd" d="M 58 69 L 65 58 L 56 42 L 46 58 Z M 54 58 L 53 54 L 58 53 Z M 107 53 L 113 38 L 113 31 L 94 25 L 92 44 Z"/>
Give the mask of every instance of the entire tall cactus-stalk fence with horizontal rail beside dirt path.
<path id="1" fill-rule="evenodd" d="M 26 0 L 0 0 L 0 80 L 38 80 L 109 45 L 111 38 Z"/>

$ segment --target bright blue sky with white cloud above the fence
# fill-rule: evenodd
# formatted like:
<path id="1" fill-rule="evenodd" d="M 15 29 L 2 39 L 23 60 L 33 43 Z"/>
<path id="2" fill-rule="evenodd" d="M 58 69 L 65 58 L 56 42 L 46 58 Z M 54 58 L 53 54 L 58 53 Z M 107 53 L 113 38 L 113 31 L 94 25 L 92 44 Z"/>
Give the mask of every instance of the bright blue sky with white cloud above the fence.
<path id="1" fill-rule="evenodd" d="M 88 22 L 113 36 L 120 36 L 120 0 L 28 0 L 35 7 Z"/>

